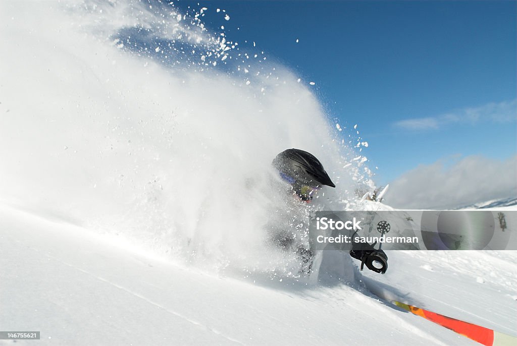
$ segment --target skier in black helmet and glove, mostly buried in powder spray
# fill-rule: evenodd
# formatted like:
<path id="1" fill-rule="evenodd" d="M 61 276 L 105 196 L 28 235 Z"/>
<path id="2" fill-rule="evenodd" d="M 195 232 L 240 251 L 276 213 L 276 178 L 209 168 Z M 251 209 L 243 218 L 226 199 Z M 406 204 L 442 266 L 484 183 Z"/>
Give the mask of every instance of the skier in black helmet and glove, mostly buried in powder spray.
<path id="1" fill-rule="evenodd" d="M 310 202 L 314 195 L 324 185 L 336 187 L 321 162 L 316 157 L 300 149 L 287 149 L 279 153 L 272 162 L 278 170 L 280 177 L 290 186 L 290 192 L 301 201 Z M 354 237 L 358 236 L 357 233 Z M 283 248 L 290 247 L 294 239 L 277 239 Z M 388 268 L 388 256 L 381 249 L 375 249 L 374 245 L 359 243 L 352 248 L 349 255 L 361 261 L 361 270 L 366 264 L 367 268 L 377 273 L 384 274 Z M 313 259 L 313 251 L 304 247 L 298 247 L 296 252 L 304 263 L 309 264 Z"/>

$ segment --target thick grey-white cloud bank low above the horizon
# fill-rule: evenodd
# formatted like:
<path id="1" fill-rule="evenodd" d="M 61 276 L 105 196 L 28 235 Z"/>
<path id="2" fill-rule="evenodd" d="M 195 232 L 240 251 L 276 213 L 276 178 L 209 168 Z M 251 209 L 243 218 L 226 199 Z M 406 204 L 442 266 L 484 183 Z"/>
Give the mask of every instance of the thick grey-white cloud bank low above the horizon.
<path id="1" fill-rule="evenodd" d="M 498 161 L 467 156 L 419 165 L 390 183 L 386 203 L 407 209 L 452 209 L 517 196 L 517 156 Z"/>

